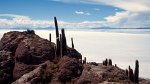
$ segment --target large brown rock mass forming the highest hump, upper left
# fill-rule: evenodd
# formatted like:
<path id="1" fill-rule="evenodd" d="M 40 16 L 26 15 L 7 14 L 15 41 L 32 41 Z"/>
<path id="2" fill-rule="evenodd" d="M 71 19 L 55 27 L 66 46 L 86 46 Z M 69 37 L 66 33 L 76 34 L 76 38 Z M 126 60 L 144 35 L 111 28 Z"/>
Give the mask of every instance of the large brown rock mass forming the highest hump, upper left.
<path id="1" fill-rule="evenodd" d="M 5 33 L 0 41 L 0 50 L 10 51 L 16 61 L 25 64 L 40 64 L 54 59 L 54 43 L 37 36 L 34 31 Z"/>

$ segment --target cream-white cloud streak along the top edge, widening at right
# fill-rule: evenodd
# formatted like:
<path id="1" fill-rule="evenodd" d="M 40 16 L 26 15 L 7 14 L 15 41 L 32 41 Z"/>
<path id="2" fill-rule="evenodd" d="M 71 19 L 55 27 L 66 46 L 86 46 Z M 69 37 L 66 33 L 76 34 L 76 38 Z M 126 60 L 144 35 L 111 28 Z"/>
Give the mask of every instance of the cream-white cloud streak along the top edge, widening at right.
<path id="1" fill-rule="evenodd" d="M 132 12 L 150 11 L 148 0 L 52 0 L 64 3 L 85 3 L 110 5 Z"/>

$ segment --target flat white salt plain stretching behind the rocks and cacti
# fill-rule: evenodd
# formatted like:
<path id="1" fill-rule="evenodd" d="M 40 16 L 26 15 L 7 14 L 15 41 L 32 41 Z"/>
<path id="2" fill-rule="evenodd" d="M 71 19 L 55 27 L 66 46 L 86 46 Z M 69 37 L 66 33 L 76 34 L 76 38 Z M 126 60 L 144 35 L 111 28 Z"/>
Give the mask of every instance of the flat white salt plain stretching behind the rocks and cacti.
<path id="1" fill-rule="evenodd" d="M 1 30 L 0 37 L 4 32 Z M 55 42 L 55 31 L 36 30 L 36 34 L 42 38 L 49 39 L 52 34 L 52 41 Z M 75 48 L 87 58 L 87 61 L 102 62 L 111 58 L 113 64 L 122 69 L 130 65 L 133 69 L 135 60 L 139 60 L 140 77 L 150 78 L 150 34 L 129 34 L 94 31 L 67 31 L 67 44 L 71 46 L 70 38 L 74 38 Z"/>

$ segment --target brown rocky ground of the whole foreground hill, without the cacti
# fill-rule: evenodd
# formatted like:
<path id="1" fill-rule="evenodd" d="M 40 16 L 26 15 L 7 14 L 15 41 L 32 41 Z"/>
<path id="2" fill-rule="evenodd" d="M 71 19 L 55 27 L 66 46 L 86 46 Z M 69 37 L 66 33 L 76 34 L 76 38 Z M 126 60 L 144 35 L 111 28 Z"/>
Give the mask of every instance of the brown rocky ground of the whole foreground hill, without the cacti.
<path id="1" fill-rule="evenodd" d="M 58 56 L 55 46 L 34 31 L 5 33 L 0 40 L 0 84 L 132 84 L 119 67 L 83 64 L 82 55 L 69 47 L 67 55 Z"/>

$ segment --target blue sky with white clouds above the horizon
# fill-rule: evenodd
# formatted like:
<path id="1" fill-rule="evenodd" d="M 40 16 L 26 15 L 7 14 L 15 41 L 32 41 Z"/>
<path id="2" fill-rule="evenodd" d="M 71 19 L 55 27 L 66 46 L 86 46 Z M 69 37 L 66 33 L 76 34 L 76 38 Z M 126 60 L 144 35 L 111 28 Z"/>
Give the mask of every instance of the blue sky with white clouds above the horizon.
<path id="1" fill-rule="evenodd" d="M 0 28 L 149 28 L 148 0 L 0 0 Z"/>

